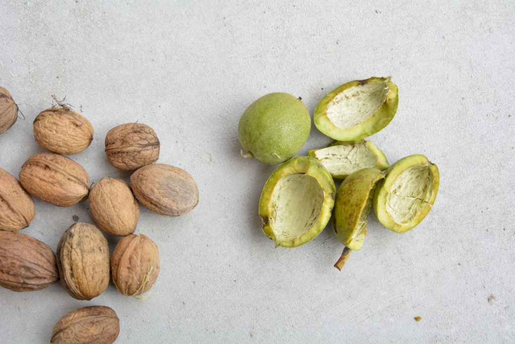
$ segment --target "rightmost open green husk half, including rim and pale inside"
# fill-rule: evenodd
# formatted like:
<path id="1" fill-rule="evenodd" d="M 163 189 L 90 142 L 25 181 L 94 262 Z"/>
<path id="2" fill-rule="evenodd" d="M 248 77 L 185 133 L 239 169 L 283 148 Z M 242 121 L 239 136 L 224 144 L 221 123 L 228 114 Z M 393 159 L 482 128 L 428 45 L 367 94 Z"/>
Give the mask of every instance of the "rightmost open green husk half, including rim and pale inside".
<path id="1" fill-rule="evenodd" d="M 388 229 L 404 233 L 419 224 L 435 203 L 438 167 L 424 155 L 407 156 L 386 170 L 377 184 L 374 211 Z"/>

